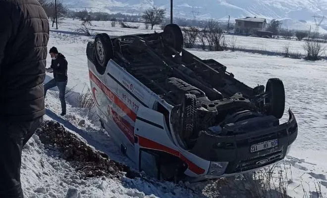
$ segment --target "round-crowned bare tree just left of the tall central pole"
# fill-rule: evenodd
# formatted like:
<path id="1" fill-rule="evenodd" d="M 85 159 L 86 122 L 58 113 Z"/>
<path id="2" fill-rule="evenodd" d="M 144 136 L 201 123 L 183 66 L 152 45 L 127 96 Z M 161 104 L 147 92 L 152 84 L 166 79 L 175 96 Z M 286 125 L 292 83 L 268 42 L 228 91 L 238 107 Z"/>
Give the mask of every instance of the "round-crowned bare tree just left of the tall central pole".
<path id="1" fill-rule="evenodd" d="M 154 6 L 145 10 L 142 18 L 145 19 L 146 23 L 151 24 L 151 30 L 153 30 L 153 26 L 159 25 L 163 22 L 165 12 L 165 9 L 157 8 Z"/>

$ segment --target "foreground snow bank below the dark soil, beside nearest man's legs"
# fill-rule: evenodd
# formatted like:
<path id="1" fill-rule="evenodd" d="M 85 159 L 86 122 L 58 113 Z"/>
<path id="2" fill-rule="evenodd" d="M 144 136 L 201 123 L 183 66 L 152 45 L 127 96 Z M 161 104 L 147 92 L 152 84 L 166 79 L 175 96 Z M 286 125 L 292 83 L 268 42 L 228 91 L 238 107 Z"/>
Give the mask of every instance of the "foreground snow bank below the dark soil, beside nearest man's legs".
<path id="1" fill-rule="evenodd" d="M 157 198 L 155 194 L 164 198 L 189 197 L 181 190 L 163 193 L 140 178 L 121 181 L 119 177 L 76 171 L 76 161 L 63 159 L 57 148 L 49 146 L 35 134 L 23 149 L 21 180 L 27 198 Z M 119 174 L 114 171 L 115 166 L 110 167 L 112 174 Z"/>

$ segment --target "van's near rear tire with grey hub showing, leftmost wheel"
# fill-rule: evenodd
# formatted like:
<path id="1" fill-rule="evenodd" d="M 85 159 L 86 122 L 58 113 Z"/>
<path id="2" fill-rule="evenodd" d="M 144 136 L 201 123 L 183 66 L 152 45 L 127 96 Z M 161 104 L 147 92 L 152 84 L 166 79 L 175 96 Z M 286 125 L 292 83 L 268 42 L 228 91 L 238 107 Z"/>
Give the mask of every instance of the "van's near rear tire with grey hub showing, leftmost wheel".
<path id="1" fill-rule="evenodd" d="M 95 36 L 94 49 L 99 65 L 106 68 L 108 61 L 113 58 L 114 54 L 113 45 L 108 34 L 101 33 Z"/>

